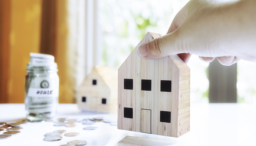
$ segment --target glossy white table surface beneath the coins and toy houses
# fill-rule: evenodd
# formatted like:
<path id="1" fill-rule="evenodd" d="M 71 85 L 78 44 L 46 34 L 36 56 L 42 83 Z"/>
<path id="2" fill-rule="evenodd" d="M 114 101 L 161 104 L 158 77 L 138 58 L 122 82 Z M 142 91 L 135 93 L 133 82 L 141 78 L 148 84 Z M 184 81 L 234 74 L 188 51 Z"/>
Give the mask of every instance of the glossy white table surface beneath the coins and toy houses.
<path id="1" fill-rule="evenodd" d="M 140 132 L 118 130 L 117 126 L 97 122 L 98 130 L 83 130 L 77 127 L 56 127 L 53 122 L 28 122 L 21 134 L 1 139 L 0 146 L 59 146 L 72 140 L 85 140 L 87 146 L 117 146 L 125 136 L 146 137 L 170 141 L 171 146 L 256 146 L 256 107 L 252 104 L 193 104 L 190 105 L 190 132 L 179 138 Z M 81 112 L 76 104 L 59 104 L 56 118 L 92 118 L 105 116 L 117 120 L 117 114 Z M 0 122 L 17 121 L 25 118 L 24 104 L 0 104 Z M 77 137 L 65 137 L 61 141 L 43 141 L 44 134 L 64 129 L 80 132 Z"/>

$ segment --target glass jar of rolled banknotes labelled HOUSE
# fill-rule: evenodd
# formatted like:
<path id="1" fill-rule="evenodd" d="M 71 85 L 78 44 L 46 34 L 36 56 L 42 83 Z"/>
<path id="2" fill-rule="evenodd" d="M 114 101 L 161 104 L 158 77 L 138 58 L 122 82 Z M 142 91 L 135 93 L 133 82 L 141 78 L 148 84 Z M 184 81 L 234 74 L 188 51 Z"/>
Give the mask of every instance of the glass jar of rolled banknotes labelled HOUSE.
<path id="1" fill-rule="evenodd" d="M 41 121 L 53 118 L 59 99 L 59 76 L 52 55 L 30 53 L 25 77 L 26 118 Z"/>

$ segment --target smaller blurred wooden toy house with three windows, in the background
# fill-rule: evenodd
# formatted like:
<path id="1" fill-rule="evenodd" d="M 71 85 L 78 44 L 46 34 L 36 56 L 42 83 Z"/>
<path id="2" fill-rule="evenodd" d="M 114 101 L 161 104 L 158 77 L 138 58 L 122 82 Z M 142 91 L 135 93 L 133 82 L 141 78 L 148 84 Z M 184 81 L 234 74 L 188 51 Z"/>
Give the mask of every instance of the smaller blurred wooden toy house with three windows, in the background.
<path id="1" fill-rule="evenodd" d="M 106 66 L 92 68 L 78 86 L 77 104 L 86 111 L 117 111 L 117 73 Z"/>

